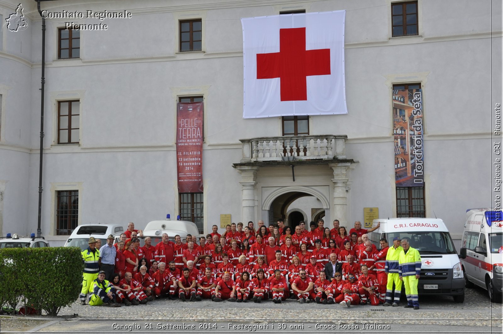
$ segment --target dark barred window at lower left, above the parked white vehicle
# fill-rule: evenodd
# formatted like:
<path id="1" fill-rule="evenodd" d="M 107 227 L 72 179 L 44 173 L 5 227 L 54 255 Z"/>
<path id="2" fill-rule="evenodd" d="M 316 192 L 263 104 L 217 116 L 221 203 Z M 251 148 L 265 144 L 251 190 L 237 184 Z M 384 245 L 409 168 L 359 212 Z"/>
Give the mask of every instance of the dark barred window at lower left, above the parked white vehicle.
<path id="1" fill-rule="evenodd" d="M 56 235 L 70 235 L 78 225 L 78 191 L 56 191 Z"/>

